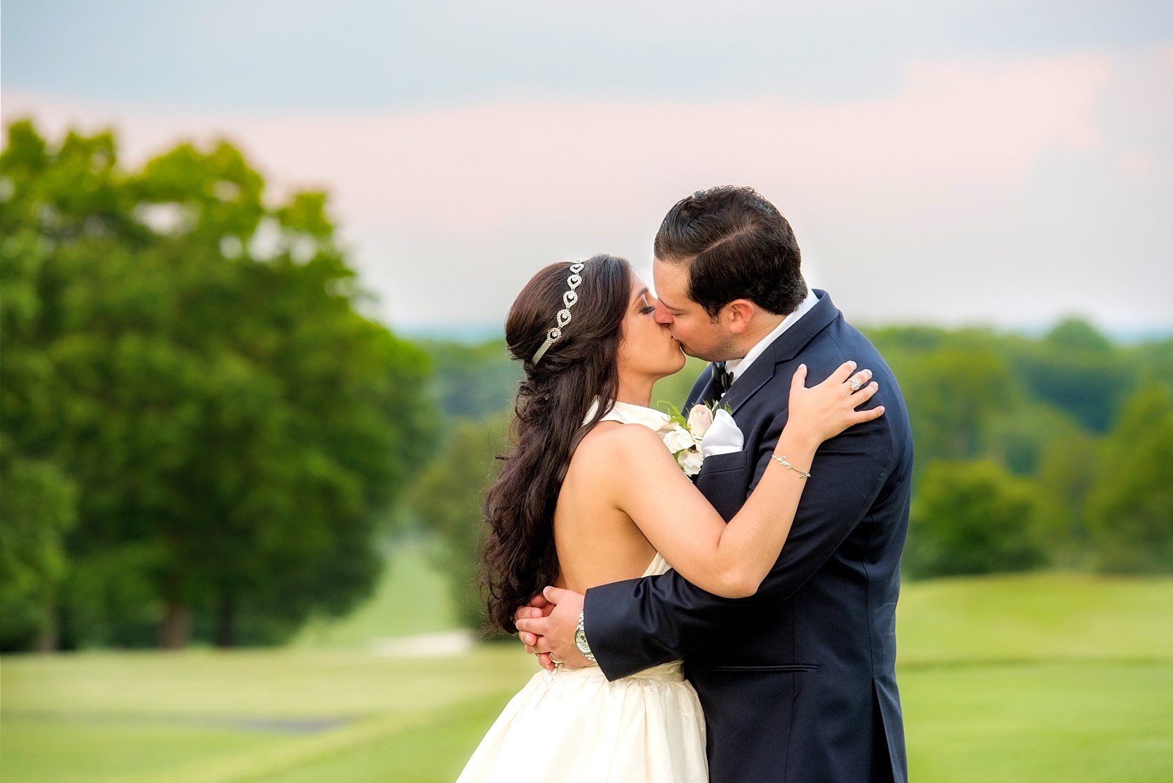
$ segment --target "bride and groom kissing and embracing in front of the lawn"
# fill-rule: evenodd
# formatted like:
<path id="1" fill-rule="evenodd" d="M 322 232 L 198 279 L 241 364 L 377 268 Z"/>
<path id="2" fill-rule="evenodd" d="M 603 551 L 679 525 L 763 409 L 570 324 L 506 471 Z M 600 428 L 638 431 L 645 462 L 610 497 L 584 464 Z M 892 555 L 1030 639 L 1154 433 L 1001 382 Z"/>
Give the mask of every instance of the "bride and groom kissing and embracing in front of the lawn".
<path id="1" fill-rule="evenodd" d="M 676 204 L 652 275 L 551 264 L 509 311 L 488 619 L 543 670 L 459 783 L 903 783 L 900 388 L 752 189 Z"/>

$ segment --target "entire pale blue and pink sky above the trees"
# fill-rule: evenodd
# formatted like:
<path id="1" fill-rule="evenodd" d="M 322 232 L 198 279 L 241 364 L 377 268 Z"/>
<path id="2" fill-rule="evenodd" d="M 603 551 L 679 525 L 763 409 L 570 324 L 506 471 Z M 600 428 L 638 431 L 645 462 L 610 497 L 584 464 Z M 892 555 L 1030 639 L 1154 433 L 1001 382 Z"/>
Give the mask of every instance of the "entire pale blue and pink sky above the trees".
<path id="1" fill-rule="evenodd" d="M 8 0 L 0 114 L 325 188 L 377 313 L 500 328 L 752 185 L 860 324 L 1173 329 L 1173 4 Z"/>

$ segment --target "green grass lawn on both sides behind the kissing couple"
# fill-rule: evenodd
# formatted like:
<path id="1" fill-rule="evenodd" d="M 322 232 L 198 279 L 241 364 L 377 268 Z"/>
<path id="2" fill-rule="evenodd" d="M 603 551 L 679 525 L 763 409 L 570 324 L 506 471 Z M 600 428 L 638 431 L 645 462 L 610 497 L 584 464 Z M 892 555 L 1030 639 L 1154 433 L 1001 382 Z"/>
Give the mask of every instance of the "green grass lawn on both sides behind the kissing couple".
<path id="1" fill-rule="evenodd" d="M 535 666 L 513 645 L 367 651 L 449 624 L 438 594 L 415 547 L 369 605 L 285 649 L 6 656 L 0 778 L 452 781 Z M 899 632 L 914 781 L 1173 779 L 1173 579 L 914 583 Z"/>

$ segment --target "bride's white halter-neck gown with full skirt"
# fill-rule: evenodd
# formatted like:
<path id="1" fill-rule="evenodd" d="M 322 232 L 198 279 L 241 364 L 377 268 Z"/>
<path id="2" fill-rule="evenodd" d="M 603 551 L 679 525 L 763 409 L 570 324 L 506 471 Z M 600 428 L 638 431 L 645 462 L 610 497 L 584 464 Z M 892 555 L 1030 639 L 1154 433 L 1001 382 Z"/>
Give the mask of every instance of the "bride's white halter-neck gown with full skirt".
<path id="1" fill-rule="evenodd" d="M 667 416 L 616 402 L 603 421 L 660 435 Z M 658 553 L 645 577 L 671 566 Z M 682 663 L 613 682 L 597 666 L 538 672 L 510 700 L 457 783 L 707 783 L 705 716 Z"/>

